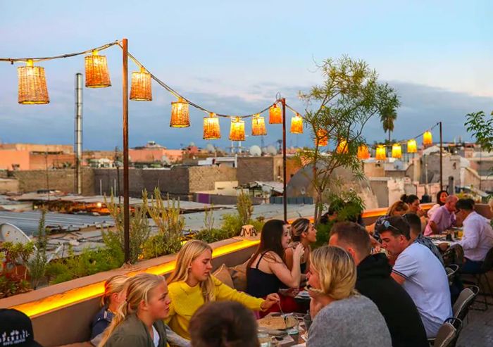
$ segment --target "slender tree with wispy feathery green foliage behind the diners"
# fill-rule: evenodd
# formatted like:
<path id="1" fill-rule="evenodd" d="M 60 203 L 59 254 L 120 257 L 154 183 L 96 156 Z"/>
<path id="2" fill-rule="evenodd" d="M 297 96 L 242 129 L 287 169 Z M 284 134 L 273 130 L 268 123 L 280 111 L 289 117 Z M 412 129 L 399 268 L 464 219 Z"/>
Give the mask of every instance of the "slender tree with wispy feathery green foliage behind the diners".
<path id="1" fill-rule="evenodd" d="M 315 190 L 316 222 L 323 210 L 323 194 L 331 185 L 341 183 L 333 175 L 336 168 L 349 168 L 356 179 L 363 178 L 358 147 L 365 143 L 363 128 L 375 114 L 399 107 L 399 98 L 392 87 L 377 81 L 377 72 L 364 61 L 348 56 L 327 59 L 318 66 L 324 77 L 321 85 L 308 93 L 300 93 L 306 103 L 304 120 L 316 139 L 315 148 L 305 148 L 298 154 L 301 165 L 310 166 L 309 175 Z M 320 143 L 325 139 L 339 151 L 323 153 Z"/>

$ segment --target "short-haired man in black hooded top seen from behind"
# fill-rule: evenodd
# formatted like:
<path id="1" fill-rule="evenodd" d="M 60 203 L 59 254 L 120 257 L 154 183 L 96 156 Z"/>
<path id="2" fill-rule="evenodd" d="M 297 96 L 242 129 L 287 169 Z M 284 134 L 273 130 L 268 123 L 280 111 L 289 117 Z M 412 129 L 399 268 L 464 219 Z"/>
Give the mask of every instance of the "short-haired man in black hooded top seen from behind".
<path id="1" fill-rule="evenodd" d="M 329 244 L 344 248 L 354 258 L 356 289 L 377 305 L 387 322 L 392 346 L 428 347 L 425 327 L 413 299 L 390 277 L 392 267 L 385 254 L 370 254 L 366 229 L 353 222 L 339 222 L 332 227 Z"/>

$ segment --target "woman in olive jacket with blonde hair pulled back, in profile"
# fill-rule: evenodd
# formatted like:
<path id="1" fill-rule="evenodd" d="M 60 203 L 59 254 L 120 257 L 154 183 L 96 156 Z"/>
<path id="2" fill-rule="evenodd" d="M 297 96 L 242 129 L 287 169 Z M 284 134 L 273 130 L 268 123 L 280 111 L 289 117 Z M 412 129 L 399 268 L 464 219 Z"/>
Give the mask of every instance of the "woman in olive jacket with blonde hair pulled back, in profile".
<path id="1" fill-rule="evenodd" d="M 99 347 L 166 347 L 170 298 L 163 276 L 139 274 L 128 279 L 126 300 L 104 332 Z"/>

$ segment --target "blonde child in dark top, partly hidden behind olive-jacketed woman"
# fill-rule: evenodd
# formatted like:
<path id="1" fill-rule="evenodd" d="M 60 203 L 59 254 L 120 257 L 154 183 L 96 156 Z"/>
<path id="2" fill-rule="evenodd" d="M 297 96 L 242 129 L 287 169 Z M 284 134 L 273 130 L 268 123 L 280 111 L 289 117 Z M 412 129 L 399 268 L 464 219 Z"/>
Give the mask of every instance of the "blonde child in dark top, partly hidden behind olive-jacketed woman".
<path id="1" fill-rule="evenodd" d="M 104 282 L 104 294 L 101 297 L 101 310 L 92 321 L 91 343 L 97 346 L 103 338 L 103 332 L 113 320 L 113 316 L 125 301 L 125 283 L 128 277 L 115 275 Z"/>

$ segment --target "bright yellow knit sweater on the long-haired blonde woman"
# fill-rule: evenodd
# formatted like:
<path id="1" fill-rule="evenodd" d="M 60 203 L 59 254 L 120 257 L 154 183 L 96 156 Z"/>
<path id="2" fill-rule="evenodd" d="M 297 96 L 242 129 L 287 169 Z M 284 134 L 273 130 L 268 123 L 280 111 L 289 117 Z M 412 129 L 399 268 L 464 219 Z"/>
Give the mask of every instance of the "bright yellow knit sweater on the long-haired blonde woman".
<path id="1" fill-rule="evenodd" d="M 230 286 L 227 286 L 219 279 L 213 277 L 214 294 L 216 301 L 237 301 L 242 303 L 251 310 L 261 310 L 263 299 L 254 298 L 248 294 L 240 293 Z M 173 282 L 168 284 L 168 291 L 171 299 L 170 315 L 166 318 L 166 323 L 170 326 L 173 332 L 190 339 L 188 332 L 188 324 L 192 315 L 198 310 L 201 305 L 204 305 L 204 298 L 199 285 L 189 286 L 185 281 Z"/>

